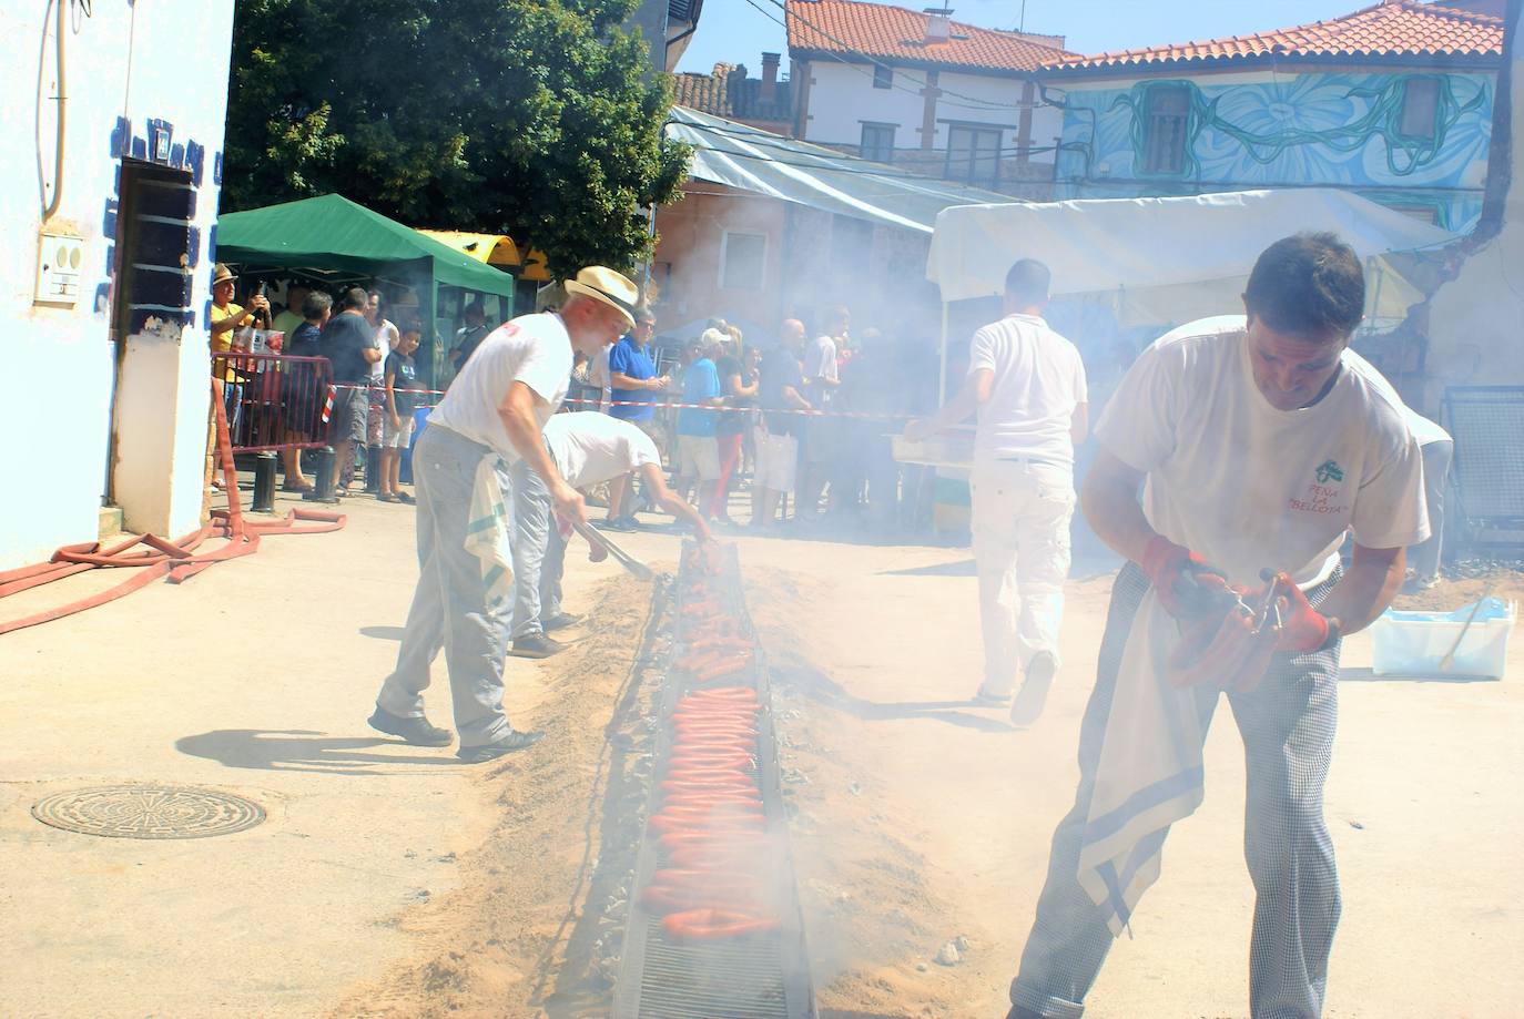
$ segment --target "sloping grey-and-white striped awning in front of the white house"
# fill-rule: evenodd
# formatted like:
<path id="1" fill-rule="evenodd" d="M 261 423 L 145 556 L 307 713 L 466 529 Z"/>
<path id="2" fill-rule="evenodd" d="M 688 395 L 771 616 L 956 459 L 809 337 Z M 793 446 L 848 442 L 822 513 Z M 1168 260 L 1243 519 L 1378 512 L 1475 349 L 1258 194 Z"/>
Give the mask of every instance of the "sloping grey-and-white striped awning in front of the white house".
<path id="1" fill-rule="evenodd" d="M 666 136 L 693 146 L 689 177 L 812 209 L 931 233 L 948 206 L 1009 203 L 1009 195 L 920 177 L 785 139 L 687 107 L 672 107 Z"/>

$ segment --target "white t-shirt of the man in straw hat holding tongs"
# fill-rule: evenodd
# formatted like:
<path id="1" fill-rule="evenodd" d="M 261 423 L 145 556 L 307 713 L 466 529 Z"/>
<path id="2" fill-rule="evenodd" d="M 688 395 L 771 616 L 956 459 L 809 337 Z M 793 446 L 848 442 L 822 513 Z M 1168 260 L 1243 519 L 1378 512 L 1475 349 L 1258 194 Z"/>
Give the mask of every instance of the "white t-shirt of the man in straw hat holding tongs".
<path id="1" fill-rule="evenodd" d="M 572 337 L 552 312 L 506 321 L 483 340 L 460 375 L 450 384 L 430 425 L 443 425 L 471 442 L 491 446 L 514 463 L 518 451 L 507 439 L 497 408 L 514 382 L 523 382 L 543 401 L 535 407 L 541 428 L 567 395 L 572 378 Z"/>

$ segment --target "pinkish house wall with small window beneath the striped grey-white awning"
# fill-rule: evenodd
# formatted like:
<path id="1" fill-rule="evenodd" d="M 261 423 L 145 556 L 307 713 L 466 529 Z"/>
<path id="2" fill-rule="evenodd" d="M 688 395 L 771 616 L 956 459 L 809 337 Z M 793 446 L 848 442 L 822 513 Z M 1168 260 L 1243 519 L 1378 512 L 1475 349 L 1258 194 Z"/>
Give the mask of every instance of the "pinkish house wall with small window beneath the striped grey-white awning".
<path id="1" fill-rule="evenodd" d="M 779 317 L 783 276 L 782 200 L 689 181 L 683 200 L 657 210 L 657 329 L 721 317 L 771 327 Z M 754 286 L 727 288 L 721 279 L 725 232 L 767 238 L 765 268 Z"/>

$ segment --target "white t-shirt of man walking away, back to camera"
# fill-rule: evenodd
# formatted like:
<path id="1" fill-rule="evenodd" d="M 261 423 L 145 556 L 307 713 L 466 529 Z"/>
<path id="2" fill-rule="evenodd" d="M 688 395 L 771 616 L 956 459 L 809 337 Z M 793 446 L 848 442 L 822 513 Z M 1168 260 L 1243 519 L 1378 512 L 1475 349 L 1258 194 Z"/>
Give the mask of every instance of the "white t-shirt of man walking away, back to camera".
<path id="1" fill-rule="evenodd" d="M 1074 408 L 1090 399 L 1074 344 L 1036 315 L 1006 315 L 974 334 L 968 373 L 980 370 L 995 378 L 978 408 L 974 460 L 1036 457 L 1073 465 Z"/>

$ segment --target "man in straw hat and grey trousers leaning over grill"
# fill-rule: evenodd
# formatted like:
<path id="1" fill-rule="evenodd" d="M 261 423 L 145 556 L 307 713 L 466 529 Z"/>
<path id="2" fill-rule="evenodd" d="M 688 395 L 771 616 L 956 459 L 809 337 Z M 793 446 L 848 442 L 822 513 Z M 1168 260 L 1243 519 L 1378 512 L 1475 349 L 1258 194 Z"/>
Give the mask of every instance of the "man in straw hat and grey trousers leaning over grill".
<path id="1" fill-rule="evenodd" d="M 370 725 L 419 746 L 448 746 L 448 730 L 424 716 L 428 669 L 445 649 L 450 695 L 466 763 L 530 746 L 543 733 L 515 731 L 503 714 L 503 655 L 512 583 L 509 554 L 480 532 L 506 533 L 501 462 L 544 480 L 555 512 L 585 521 L 582 497 L 546 451 L 541 430 L 567 393 L 573 347 L 596 355 L 634 323 L 639 291 L 614 270 L 590 267 L 565 280 L 559 311 L 498 326 L 463 364 L 413 451 L 418 487 L 418 589 L 396 669 L 376 696 Z"/>

